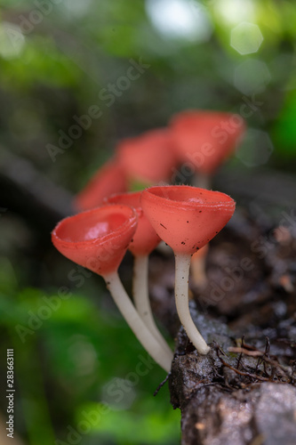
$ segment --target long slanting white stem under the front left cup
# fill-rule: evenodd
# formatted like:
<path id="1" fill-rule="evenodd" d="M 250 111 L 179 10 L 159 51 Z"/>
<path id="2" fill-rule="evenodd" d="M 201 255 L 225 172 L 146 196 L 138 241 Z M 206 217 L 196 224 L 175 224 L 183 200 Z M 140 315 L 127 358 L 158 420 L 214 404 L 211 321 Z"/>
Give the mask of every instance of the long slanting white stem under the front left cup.
<path id="1" fill-rule="evenodd" d="M 126 294 L 124 286 L 118 277 L 117 272 L 109 273 L 103 277 L 107 288 L 119 309 L 123 314 L 134 335 L 140 341 L 140 344 L 146 349 L 151 357 L 156 360 L 159 366 L 166 372 L 170 372 L 172 363 L 172 352 L 164 352 L 164 348 L 157 342 L 151 334 L 139 313 L 135 310 L 130 297 Z"/>

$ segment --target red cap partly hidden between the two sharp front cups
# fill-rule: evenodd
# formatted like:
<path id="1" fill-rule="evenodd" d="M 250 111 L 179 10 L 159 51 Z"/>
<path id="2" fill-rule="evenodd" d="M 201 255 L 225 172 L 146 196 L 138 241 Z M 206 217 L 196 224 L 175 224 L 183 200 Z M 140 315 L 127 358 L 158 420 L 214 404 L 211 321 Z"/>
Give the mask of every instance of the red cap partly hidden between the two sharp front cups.
<path id="1" fill-rule="evenodd" d="M 118 193 L 106 198 L 106 203 L 108 204 L 124 204 L 125 206 L 132 206 L 138 213 L 137 229 L 132 237 L 131 244 L 129 245 L 129 250 L 133 255 L 149 255 L 161 240 L 142 210 L 140 205 L 141 193 L 141 191 L 136 191 L 134 193 Z"/>

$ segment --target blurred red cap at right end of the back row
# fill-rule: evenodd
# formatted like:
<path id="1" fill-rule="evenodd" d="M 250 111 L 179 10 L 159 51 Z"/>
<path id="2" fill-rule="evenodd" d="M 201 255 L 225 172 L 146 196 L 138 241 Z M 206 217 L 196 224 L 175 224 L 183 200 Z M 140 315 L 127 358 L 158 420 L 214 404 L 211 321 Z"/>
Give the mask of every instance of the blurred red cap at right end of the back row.
<path id="1" fill-rule="evenodd" d="M 171 127 L 180 160 L 212 174 L 236 149 L 245 123 L 236 114 L 188 110 L 172 117 Z"/>

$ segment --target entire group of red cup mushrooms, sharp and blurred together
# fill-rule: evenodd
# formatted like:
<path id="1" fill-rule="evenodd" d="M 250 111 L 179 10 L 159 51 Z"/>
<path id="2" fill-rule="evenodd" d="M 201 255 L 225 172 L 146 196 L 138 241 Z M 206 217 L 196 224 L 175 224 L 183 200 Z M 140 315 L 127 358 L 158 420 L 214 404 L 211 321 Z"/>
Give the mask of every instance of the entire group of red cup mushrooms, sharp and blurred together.
<path id="1" fill-rule="evenodd" d="M 80 213 L 52 231 L 52 242 L 61 254 L 105 279 L 135 336 L 167 372 L 172 350 L 151 311 L 148 256 L 161 240 L 172 247 L 180 322 L 196 350 L 206 354 L 209 346 L 188 308 L 189 266 L 193 256 L 196 275 L 204 279 L 208 242 L 235 211 L 232 198 L 207 188 L 209 176 L 235 150 L 244 127 L 244 120 L 234 114 L 188 110 L 172 117 L 166 128 L 119 142 L 114 158 L 76 195 Z M 188 160 L 197 184 L 204 188 L 163 185 L 172 182 L 176 167 Z M 148 188 L 136 191 L 139 185 Z M 127 249 L 134 259 L 132 299 L 117 273 Z"/>

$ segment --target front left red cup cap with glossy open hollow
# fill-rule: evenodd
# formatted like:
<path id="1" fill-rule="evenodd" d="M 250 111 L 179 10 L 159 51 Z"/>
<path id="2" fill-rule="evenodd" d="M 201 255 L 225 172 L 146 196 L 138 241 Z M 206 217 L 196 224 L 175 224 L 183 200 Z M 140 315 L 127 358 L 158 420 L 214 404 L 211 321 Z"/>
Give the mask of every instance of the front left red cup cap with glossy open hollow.
<path id="1" fill-rule="evenodd" d="M 69 260 L 104 276 L 118 269 L 137 220 L 129 206 L 97 207 L 60 221 L 52 243 Z"/>

